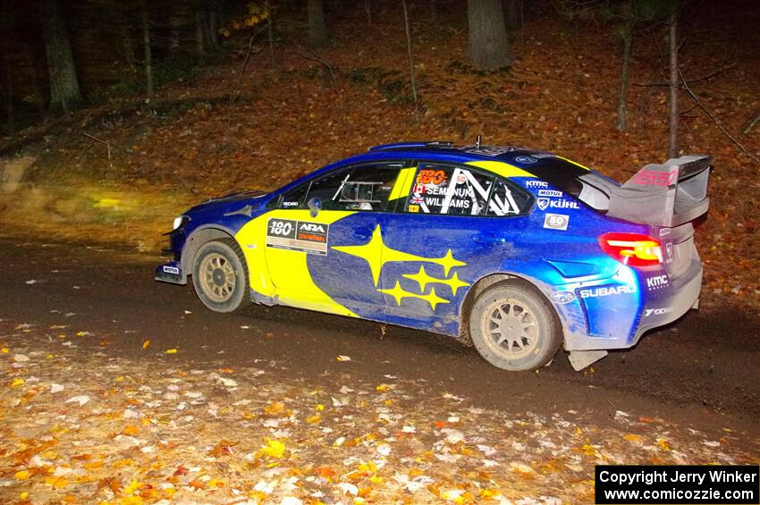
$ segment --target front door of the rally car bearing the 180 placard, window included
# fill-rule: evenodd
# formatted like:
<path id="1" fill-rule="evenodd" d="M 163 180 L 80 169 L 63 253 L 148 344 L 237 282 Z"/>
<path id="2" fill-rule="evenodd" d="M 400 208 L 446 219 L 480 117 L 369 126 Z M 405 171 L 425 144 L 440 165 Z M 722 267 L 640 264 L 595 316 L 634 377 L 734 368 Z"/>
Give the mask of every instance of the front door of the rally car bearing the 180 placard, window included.
<path id="1" fill-rule="evenodd" d="M 266 267 L 281 303 L 370 319 L 384 315 L 373 237 L 390 217 L 386 206 L 402 168 L 401 162 L 352 165 L 283 194 L 262 228 Z"/>

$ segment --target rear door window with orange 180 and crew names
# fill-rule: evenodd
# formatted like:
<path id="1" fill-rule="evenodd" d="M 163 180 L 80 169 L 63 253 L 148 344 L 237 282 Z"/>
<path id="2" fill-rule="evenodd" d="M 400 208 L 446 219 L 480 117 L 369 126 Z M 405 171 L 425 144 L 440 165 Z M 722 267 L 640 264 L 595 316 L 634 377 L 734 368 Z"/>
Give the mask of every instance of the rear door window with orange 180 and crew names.
<path id="1" fill-rule="evenodd" d="M 423 164 L 407 200 L 407 212 L 485 215 L 494 177 L 451 165 Z"/>

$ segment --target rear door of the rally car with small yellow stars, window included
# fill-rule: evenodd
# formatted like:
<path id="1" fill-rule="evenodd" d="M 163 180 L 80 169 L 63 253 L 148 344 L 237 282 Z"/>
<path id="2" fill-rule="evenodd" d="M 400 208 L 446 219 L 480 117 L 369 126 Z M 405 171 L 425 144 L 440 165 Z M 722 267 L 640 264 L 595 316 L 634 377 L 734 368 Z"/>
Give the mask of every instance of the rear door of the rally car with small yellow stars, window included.
<path id="1" fill-rule="evenodd" d="M 470 286 L 500 271 L 533 198 L 467 164 L 422 163 L 384 228 L 379 290 L 397 324 L 456 335 Z"/>

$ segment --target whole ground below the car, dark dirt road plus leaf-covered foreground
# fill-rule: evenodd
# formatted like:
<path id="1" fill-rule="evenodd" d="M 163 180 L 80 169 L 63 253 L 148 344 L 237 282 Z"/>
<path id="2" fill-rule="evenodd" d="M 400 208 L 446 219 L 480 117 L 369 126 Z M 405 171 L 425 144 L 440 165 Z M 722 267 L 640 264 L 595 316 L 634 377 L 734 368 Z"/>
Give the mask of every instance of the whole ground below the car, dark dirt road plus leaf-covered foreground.
<path id="1" fill-rule="evenodd" d="M 425 332 L 213 314 L 157 261 L 2 239 L 0 496 L 587 501 L 598 462 L 760 459 L 757 315 L 703 307 L 585 373 L 508 374 Z"/>

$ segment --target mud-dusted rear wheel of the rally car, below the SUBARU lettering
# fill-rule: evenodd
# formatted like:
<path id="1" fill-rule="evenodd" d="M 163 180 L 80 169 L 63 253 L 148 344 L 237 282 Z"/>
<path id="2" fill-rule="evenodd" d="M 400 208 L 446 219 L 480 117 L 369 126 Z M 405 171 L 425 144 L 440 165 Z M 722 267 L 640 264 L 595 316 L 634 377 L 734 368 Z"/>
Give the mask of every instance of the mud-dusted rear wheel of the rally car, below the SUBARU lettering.
<path id="1" fill-rule="evenodd" d="M 503 370 L 533 370 L 562 343 L 556 313 L 527 282 L 499 282 L 483 291 L 469 313 L 469 334 L 487 362 Z"/>

